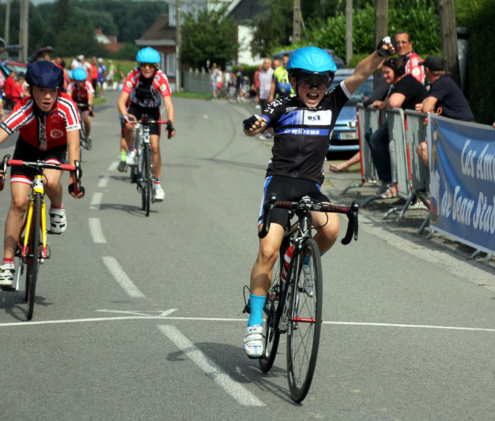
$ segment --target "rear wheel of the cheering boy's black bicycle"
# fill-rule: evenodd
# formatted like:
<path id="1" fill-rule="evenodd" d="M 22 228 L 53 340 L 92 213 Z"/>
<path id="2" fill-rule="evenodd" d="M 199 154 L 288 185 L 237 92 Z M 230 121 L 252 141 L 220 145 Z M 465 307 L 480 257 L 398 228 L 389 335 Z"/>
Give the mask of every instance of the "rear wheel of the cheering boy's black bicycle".
<path id="1" fill-rule="evenodd" d="M 265 350 L 259 365 L 261 371 L 267 373 L 272 368 L 278 350 L 278 341 L 281 332 L 278 330 L 278 321 L 281 317 L 283 306 L 280 305 L 283 295 L 282 268 L 285 251 L 289 247 L 289 240 L 284 239 L 278 251 L 278 258 L 274 264 L 272 273 L 272 285 L 268 290 L 265 306 L 263 307 L 263 348 Z"/>

